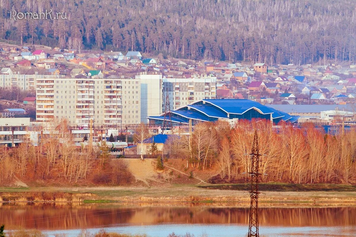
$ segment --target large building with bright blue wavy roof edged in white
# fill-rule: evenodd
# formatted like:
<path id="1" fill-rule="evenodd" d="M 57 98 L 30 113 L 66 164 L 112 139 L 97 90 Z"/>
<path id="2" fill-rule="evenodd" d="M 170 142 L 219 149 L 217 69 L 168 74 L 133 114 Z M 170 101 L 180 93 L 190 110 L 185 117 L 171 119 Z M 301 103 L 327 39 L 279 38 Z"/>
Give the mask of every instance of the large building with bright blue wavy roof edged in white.
<path id="1" fill-rule="evenodd" d="M 169 113 L 169 112 L 168 112 Z M 152 124 L 162 124 L 164 113 L 147 117 Z M 166 119 L 167 119 L 166 115 Z M 239 119 L 267 119 L 277 124 L 280 121 L 295 123 L 299 116 L 292 116 L 249 99 L 202 99 L 171 111 L 173 125 L 214 122 L 219 119 L 230 123 Z"/>

